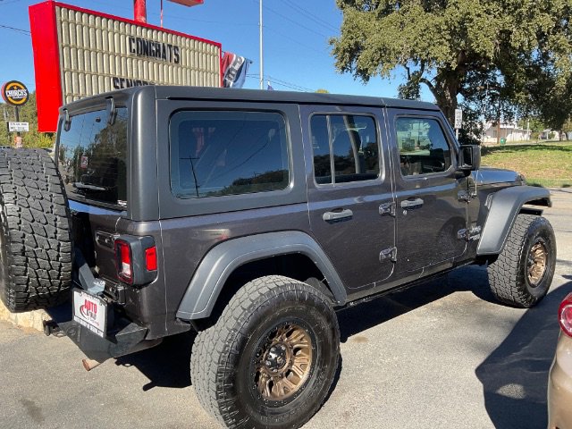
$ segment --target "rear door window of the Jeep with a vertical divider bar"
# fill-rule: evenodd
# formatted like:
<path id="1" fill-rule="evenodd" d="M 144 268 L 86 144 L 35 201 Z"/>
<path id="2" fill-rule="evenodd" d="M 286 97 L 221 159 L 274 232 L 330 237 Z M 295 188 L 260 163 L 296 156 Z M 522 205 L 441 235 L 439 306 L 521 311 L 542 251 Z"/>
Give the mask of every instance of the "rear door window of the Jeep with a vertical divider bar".
<path id="1" fill-rule="evenodd" d="M 316 183 L 369 181 L 379 176 L 374 118 L 315 114 L 310 120 L 310 132 Z"/>

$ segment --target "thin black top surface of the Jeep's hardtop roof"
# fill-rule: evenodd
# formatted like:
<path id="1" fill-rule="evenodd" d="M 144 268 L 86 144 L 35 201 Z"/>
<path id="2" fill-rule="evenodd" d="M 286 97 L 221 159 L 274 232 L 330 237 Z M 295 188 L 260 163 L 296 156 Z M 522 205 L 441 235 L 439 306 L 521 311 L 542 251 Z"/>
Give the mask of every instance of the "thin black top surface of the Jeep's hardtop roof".
<path id="1" fill-rule="evenodd" d="M 105 102 L 107 97 L 114 95 L 125 97 L 137 97 L 149 92 L 154 92 L 151 97 L 157 99 L 189 99 L 189 100 L 231 100 L 231 101 L 262 101 L 268 103 L 297 103 L 312 105 L 369 105 L 403 109 L 420 109 L 438 111 L 439 107 L 433 103 L 424 101 L 401 100 L 398 98 L 347 96 L 341 94 L 323 94 L 317 92 L 294 92 L 294 91 L 268 91 L 263 89 L 234 89 L 234 88 L 205 88 L 205 87 L 182 87 L 182 86 L 144 86 L 124 88 L 93 97 L 82 98 L 69 104 L 71 110 L 93 105 L 95 100 Z M 66 106 L 60 108 L 63 110 Z"/>

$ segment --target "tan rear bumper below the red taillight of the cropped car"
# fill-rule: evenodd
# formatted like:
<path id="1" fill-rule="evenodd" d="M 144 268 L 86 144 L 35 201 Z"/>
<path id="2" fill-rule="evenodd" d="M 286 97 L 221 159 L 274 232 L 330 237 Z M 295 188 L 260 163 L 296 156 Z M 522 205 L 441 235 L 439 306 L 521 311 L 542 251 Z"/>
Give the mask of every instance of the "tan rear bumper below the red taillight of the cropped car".
<path id="1" fill-rule="evenodd" d="M 548 427 L 572 427 L 572 338 L 560 333 L 548 377 Z"/>

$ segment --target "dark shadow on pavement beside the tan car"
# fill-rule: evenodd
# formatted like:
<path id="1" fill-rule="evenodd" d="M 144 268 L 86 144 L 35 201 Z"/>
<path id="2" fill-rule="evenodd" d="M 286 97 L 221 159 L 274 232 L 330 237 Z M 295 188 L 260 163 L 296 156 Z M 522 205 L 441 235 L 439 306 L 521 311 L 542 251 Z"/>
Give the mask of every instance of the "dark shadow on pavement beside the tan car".
<path id="1" fill-rule="evenodd" d="M 542 428 L 548 424 L 546 388 L 556 341 L 560 301 L 567 282 L 520 318 L 501 345 L 476 368 L 484 405 L 498 428 Z"/>

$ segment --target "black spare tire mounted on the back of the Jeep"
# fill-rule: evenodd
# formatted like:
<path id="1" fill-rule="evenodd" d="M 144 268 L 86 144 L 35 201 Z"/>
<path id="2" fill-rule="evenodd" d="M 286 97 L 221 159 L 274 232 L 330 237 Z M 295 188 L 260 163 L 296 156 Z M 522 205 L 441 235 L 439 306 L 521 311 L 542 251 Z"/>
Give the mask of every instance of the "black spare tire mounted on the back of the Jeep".
<path id="1" fill-rule="evenodd" d="M 67 204 L 45 150 L 0 150 L 0 298 L 12 312 L 69 298 Z"/>

